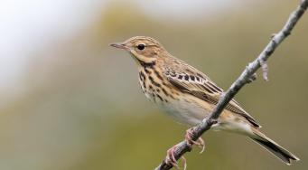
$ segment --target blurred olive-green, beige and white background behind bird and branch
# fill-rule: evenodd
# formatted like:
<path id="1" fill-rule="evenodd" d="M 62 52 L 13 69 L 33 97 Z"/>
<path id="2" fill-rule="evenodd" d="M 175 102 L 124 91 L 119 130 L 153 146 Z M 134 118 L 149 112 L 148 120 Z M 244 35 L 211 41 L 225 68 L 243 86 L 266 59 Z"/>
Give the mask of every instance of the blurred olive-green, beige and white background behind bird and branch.
<path id="1" fill-rule="evenodd" d="M 185 129 L 142 94 L 112 49 L 152 36 L 223 89 L 299 1 L 1 1 L 0 169 L 154 169 Z M 188 169 L 307 169 L 308 14 L 237 100 L 302 161 L 287 166 L 246 137 L 207 132 Z"/>

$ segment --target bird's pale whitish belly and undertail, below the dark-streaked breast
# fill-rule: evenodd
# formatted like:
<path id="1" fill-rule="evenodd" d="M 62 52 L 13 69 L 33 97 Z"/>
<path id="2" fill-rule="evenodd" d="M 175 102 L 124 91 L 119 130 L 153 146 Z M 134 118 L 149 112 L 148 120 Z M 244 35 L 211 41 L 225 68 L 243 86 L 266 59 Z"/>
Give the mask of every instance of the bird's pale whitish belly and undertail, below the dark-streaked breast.
<path id="1" fill-rule="evenodd" d="M 203 118 L 210 115 L 212 105 L 204 102 L 201 99 L 197 99 L 190 94 L 183 94 L 181 98 L 176 96 L 177 99 L 171 99 L 166 97 L 161 91 L 159 95 L 163 99 L 167 99 L 168 102 L 162 101 L 157 97 L 153 97 L 153 91 L 145 90 L 143 87 L 143 81 L 139 80 L 142 90 L 145 93 L 145 97 L 154 102 L 163 112 L 168 116 L 171 116 L 175 121 L 188 125 L 197 126 L 201 123 Z M 204 80 L 200 81 L 204 83 Z M 147 86 L 147 85 L 146 85 Z M 204 106 L 207 105 L 208 106 Z M 223 113 L 222 113 L 223 114 Z M 218 123 L 213 125 L 213 130 L 224 130 L 234 132 L 243 135 L 253 135 L 252 129 L 245 118 L 238 118 L 236 114 L 228 114 L 228 118 L 218 119 Z"/>

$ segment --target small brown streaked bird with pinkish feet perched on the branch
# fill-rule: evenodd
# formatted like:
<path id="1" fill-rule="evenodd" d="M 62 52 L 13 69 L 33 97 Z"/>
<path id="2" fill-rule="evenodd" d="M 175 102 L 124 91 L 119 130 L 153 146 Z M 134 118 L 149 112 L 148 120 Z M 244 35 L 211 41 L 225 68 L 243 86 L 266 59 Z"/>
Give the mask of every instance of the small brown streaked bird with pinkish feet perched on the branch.
<path id="1" fill-rule="evenodd" d="M 210 115 L 223 93 L 206 74 L 174 57 L 154 38 L 135 36 L 125 42 L 111 43 L 110 46 L 125 50 L 132 56 L 137 65 L 139 84 L 145 97 L 179 123 L 189 127 L 200 124 L 203 118 Z M 217 122 L 210 128 L 249 137 L 286 165 L 291 165 L 292 160 L 300 160 L 283 146 L 266 137 L 260 131 L 260 127 L 255 118 L 242 109 L 235 99 L 231 99 Z M 190 129 L 187 130 L 185 138 L 191 145 L 197 144 L 204 149 L 201 138 L 198 141 L 191 140 Z M 173 166 L 177 166 L 173 156 L 175 147 L 167 152 L 167 163 Z"/>

